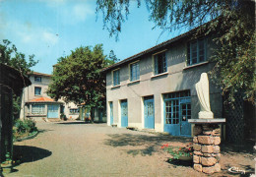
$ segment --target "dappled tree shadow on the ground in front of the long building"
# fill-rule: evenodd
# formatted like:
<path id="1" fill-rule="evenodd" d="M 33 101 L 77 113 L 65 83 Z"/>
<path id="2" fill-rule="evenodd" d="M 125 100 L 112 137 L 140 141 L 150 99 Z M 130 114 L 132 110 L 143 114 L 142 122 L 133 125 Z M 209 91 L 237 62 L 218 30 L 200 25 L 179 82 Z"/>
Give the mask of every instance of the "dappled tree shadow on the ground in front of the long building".
<path id="1" fill-rule="evenodd" d="M 132 149 L 127 150 L 128 154 L 132 155 L 152 155 L 166 142 L 173 143 L 190 143 L 191 138 L 184 137 L 172 137 L 172 136 L 148 136 L 148 135 L 131 135 L 131 134 L 114 134 L 107 135 L 109 139 L 105 140 L 106 146 L 111 147 L 132 147 Z"/>

